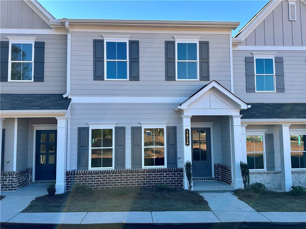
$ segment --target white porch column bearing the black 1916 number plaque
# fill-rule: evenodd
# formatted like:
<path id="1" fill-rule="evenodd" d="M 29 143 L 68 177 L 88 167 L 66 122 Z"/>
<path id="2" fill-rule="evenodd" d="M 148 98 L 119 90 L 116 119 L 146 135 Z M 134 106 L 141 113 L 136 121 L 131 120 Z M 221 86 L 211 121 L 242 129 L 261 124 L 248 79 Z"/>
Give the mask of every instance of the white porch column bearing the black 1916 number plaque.
<path id="1" fill-rule="evenodd" d="M 190 118 L 191 115 L 181 115 L 182 118 L 182 133 L 183 133 L 183 150 L 184 150 L 184 189 L 188 189 L 188 182 L 187 182 L 187 177 L 186 177 L 186 173 L 185 173 L 185 163 L 186 161 L 190 161 L 191 160 L 191 143 L 189 143 L 189 146 L 185 145 L 185 129 L 189 130 L 190 133 L 190 129 L 191 129 L 191 124 L 190 124 Z M 191 139 L 191 136 L 189 137 L 189 139 Z"/>

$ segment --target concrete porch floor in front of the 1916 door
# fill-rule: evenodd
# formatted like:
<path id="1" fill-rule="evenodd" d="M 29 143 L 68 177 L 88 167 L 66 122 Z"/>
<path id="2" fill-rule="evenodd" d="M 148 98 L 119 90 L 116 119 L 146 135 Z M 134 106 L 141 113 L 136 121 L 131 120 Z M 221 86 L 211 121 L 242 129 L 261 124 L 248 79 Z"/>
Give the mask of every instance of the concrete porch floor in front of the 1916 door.
<path id="1" fill-rule="evenodd" d="M 193 181 L 193 191 L 202 191 L 202 192 L 232 192 L 235 189 L 233 186 L 226 184 L 218 180 L 210 181 Z"/>

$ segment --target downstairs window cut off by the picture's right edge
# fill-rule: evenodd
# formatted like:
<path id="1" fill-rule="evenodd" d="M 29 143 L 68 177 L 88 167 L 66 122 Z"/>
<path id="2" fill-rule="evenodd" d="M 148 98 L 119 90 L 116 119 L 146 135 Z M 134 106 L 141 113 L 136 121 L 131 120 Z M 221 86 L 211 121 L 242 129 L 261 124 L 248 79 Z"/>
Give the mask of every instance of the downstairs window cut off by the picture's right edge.
<path id="1" fill-rule="evenodd" d="M 291 168 L 306 169 L 306 135 L 290 134 Z"/>

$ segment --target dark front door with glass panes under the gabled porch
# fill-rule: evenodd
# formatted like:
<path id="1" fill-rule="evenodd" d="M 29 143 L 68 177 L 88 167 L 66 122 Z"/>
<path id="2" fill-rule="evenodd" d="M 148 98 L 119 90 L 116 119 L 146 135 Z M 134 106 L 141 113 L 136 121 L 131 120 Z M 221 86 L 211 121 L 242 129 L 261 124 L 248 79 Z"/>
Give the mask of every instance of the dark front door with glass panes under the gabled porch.
<path id="1" fill-rule="evenodd" d="M 192 176 L 211 177 L 210 128 L 191 128 Z"/>

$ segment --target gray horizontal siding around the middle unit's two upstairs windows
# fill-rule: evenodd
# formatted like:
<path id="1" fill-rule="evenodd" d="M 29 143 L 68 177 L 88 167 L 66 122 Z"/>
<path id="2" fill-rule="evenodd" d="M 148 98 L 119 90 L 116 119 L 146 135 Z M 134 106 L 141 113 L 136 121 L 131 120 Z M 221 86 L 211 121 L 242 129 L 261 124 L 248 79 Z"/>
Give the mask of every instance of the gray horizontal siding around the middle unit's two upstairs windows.
<path id="1" fill-rule="evenodd" d="M 93 80 L 93 39 L 101 34 L 131 35 L 139 40 L 140 81 Z M 209 81 L 166 81 L 165 41 L 174 35 L 209 41 L 210 80 L 230 90 L 228 34 L 71 32 L 71 96 L 190 96 Z"/>

